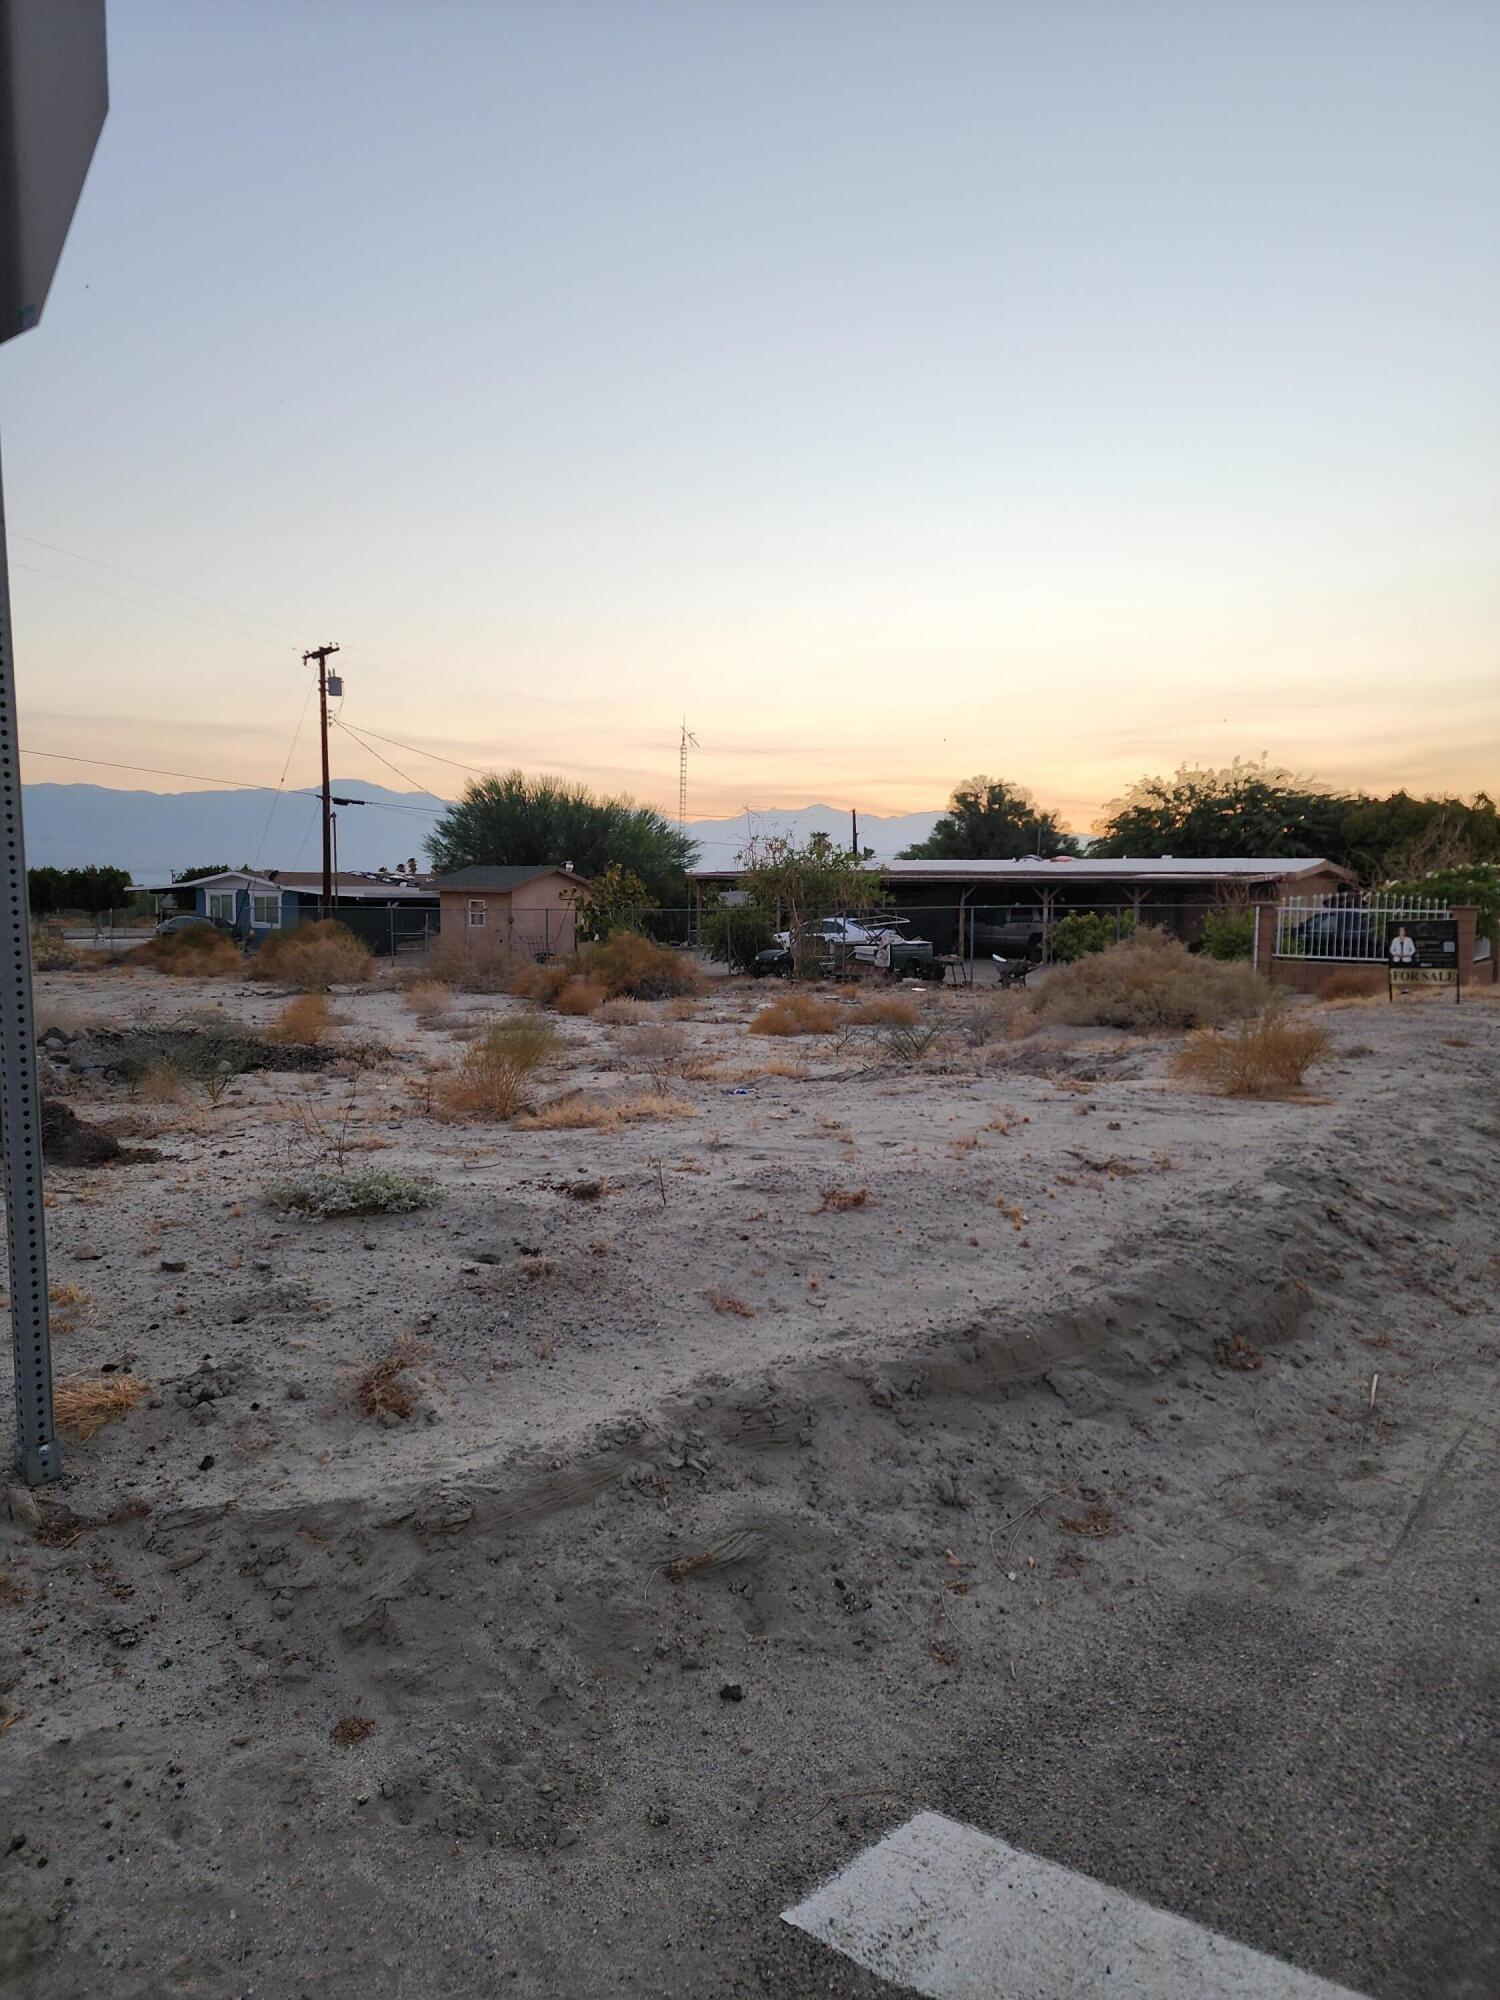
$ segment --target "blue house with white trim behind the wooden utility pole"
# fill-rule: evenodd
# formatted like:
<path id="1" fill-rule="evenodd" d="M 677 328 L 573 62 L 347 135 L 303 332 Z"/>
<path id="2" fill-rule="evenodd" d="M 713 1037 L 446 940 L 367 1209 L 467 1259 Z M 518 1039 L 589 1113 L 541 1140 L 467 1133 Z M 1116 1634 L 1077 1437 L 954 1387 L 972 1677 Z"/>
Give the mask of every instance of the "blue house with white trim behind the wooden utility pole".
<path id="1" fill-rule="evenodd" d="M 338 874 L 330 904 L 322 874 L 286 868 L 226 868 L 192 882 L 136 882 L 132 894 L 156 898 L 158 916 L 194 912 L 232 924 L 260 944 L 274 930 L 334 916 L 376 952 L 418 948 L 438 930 L 438 892 L 424 874 Z"/>

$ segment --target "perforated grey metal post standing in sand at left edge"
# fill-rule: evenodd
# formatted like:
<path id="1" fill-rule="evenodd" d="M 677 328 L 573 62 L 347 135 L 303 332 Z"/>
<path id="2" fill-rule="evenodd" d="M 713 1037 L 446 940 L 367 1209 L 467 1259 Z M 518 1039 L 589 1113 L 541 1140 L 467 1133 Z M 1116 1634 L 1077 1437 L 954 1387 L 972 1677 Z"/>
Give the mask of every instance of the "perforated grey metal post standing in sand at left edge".
<path id="1" fill-rule="evenodd" d="M 42 1486 L 62 1474 L 62 1448 L 52 1428 L 42 1098 L 36 1086 L 32 914 L 20 810 L 4 482 L 0 482 L 0 1146 L 10 1254 L 10 1332 L 16 1350 L 16 1470 L 28 1486 Z"/>

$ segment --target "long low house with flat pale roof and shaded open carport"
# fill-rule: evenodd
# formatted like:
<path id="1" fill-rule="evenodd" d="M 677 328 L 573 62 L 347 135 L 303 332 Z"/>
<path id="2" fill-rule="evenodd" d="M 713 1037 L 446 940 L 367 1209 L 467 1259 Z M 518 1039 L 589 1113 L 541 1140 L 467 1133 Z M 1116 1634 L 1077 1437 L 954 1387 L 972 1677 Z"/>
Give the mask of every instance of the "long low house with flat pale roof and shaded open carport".
<path id="1" fill-rule="evenodd" d="M 1224 904 L 1280 902 L 1284 896 L 1338 896 L 1356 886 L 1348 868 L 1316 858 L 1188 858 L 996 862 L 874 862 L 888 910 L 912 936 L 942 952 L 984 952 L 1000 926 L 1052 924 L 1070 910 L 1128 914 L 1160 924 L 1192 944 L 1204 916 Z M 738 868 L 690 870 L 694 904 L 734 888 Z"/>

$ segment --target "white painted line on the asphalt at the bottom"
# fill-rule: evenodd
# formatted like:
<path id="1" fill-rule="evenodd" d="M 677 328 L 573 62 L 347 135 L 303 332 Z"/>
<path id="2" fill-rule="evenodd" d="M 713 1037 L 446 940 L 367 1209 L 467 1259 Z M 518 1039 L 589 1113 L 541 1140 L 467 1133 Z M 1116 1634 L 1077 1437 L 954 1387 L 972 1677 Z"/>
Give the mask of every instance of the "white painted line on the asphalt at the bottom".
<path id="1" fill-rule="evenodd" d="M 928 2000 L 1360 2000 L 940 1812 L 782 1920 Z"/>

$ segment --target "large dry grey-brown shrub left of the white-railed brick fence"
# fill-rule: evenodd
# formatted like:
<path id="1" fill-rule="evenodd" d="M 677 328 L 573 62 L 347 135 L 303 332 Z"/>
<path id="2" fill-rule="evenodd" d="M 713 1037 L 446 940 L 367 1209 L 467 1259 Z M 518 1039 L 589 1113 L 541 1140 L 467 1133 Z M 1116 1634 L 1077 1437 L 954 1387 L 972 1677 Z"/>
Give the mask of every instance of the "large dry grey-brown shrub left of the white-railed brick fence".
<path id="1" fill-rule="evenodd" d="M 1250 966 L 1194 958 L 1164 930 L 1060 966 L 1028 996 L 1024 1018 L 1088 1028 L 1216 1028 L 1256 1014 L 1270 986 Z"/>

